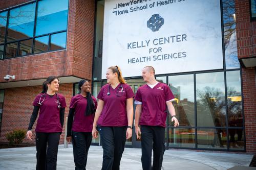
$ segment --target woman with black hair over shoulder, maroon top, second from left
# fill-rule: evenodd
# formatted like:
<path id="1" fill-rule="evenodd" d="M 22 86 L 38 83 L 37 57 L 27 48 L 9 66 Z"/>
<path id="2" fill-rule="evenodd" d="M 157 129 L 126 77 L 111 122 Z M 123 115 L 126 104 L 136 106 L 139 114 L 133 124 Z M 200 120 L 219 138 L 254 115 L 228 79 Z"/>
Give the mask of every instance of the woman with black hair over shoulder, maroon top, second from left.
<path id="1" fill-rule="evenodd" d="M 72 139 L 75 170 L 85 170 L 87 155 L 92 142 L 93 119 L 97 100 L 90 93 L 89 81 L 82 79 L 78 83 L 78 88 L 81 93 L 73 96 L 69 106 L 67 141 L 71 142 Z"/>

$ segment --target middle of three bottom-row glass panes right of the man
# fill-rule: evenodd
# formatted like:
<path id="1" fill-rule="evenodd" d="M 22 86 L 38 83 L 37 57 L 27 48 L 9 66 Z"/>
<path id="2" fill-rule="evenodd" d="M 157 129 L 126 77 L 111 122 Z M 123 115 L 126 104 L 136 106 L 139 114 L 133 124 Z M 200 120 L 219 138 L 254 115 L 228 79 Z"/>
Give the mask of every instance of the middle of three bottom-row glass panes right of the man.
<path id="1" fill-rule="evenodd" d="M 226 129 L 198 129 L 198 148 L 227 149 Z"/>

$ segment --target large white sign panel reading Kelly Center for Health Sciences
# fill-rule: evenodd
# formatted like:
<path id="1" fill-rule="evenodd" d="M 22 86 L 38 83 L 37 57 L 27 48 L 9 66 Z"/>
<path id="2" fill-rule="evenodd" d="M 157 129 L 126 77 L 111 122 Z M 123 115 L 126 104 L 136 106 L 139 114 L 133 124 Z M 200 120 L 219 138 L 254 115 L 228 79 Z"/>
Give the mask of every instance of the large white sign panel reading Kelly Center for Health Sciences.
<path id="1" fill-rule="evenodd" d="M 219 0 L 105 0 L 102 79 L 112 65 L 124 77 L 223 68 Z"/>

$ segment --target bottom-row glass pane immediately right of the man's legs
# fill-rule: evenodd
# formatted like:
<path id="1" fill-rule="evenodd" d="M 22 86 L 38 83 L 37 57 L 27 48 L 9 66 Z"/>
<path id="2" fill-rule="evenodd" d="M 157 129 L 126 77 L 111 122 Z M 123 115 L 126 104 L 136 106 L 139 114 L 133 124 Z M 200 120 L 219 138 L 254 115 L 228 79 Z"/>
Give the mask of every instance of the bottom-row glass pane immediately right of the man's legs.
<path id="1" fill-rule="evenodd" d="M 169 128 L 169 146 L 195 148 L 195 129 Z"/>

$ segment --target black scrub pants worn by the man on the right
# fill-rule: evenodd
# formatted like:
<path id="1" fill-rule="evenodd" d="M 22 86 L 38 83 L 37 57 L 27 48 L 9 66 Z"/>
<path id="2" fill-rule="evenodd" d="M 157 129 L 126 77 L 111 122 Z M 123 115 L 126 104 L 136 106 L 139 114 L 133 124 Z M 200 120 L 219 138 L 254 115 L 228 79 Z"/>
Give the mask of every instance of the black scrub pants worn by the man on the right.
<path id="1" fill-rule="evenodd" d="M 160 170 L 165 151 L 165 128 L 141 125 L 141 162 L 143 170 Z M 153 149 L 153 166 L 151 165 Z"/>

